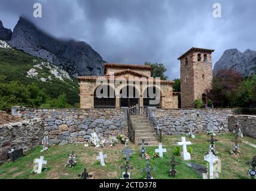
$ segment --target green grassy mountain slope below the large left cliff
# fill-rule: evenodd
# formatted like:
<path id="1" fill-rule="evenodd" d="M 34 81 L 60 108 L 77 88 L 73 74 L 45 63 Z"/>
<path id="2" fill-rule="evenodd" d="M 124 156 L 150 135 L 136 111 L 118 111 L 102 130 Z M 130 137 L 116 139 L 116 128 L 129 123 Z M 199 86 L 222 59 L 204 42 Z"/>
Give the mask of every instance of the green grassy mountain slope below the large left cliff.
<path id="1" fill-rule="evenodd" d="M 33 60 L 37 60 L 36 63 Z M 44 61 L 41 58 L 33 57 L 23 51 L 9 50 L 0 48 L 0 76 L 5 76 L 4 82 L 20 81 L 24 85 L 29 85 L 34 82 L 39 88 L 44 89 L 45 93 L 51 98 L 57 98 L 60 94 L 66 93 L 68 103 L 74 105 L 79 103 L 79 85 L 75 78 L 71 80 L 65 79 L 65 82 L 55 78 L 47 69 L 43 67 L 38 69 L 33 67 L 39 62 Z M 38 71 L 38 78 L 47 78 L 51 76 L 51 83 L 42 82 L 37 79 L 26 77 L 30 69 Z"/>

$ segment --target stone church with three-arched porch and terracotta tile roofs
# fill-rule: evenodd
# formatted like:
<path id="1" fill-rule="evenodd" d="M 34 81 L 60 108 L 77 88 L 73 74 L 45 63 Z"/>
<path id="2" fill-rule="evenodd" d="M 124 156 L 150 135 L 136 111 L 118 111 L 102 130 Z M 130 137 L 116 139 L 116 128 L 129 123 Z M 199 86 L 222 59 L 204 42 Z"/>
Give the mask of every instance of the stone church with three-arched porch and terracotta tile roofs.
<path id="1" fill-rule="evenodd" d="M 139 106 L 178 108 L 173 82 L 151 78 L 153 68 L 141 64 L 105 64 L 104 76 L 80 76 L 80 107 Z"/>

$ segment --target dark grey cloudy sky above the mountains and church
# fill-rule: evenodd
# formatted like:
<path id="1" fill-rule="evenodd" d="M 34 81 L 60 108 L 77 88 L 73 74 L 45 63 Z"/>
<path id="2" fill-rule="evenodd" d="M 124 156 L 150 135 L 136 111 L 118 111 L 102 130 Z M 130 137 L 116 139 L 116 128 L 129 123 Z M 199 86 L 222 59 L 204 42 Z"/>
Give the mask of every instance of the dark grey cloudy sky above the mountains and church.
<path id="1" fill-rule="evenodd" d="M 256 50 L 255 0 L 0 0 L 5 27 L 13 30 L 22 14 L 53 36 L 88 42 L 108 62 L 164 63 L 169 79 L 179 77 L 177 58 L 191 47 L 214 49 L 214 63 L 229 48 Z"/>

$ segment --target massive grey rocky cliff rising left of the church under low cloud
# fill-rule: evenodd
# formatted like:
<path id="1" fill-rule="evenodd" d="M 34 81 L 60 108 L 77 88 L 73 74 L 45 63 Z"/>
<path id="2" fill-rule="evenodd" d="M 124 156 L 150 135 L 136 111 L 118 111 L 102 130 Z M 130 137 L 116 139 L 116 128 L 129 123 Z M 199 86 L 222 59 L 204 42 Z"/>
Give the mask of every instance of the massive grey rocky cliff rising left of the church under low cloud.
<path id="1" fill-rule="evenodd" d="M 72 76 L 103 75 L 105 61 L 86 42 L 60 40 L 20 17 L 13 30 L 11 47 L 62 66 Z"/>

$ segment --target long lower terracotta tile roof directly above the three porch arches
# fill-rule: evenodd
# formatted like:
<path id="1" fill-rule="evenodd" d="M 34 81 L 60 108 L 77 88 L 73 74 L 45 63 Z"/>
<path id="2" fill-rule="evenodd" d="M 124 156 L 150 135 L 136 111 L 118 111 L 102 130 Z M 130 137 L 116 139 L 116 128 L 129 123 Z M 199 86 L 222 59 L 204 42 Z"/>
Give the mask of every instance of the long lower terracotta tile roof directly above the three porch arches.
<path id="1" fill-rule="evenodd" d="M 114 79 L 124 79 L 124 80 L 129 80 L 129 77 L 124 77 L 124 76 L 115 76 Z M 96 79 L 108 79 L 109 80 L 109 76 L 78 76 L 77 77 L 78 81 L 96 81 Z M 140 78 L 140 79 L 134 79 L 134 81 L 147 81 L 148 78 Z M 156 79 L 153 79 L 153 81 L 155 82 Z M 160 80 L 161 84 L 173 84 L 173 81 L 166 81 L 166 80 Z"/>

